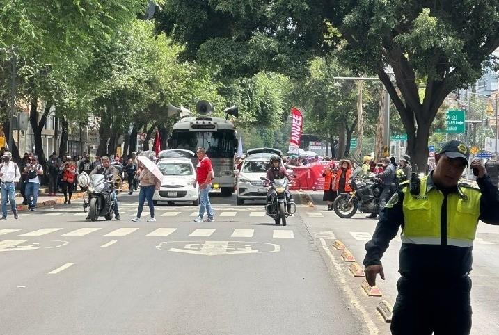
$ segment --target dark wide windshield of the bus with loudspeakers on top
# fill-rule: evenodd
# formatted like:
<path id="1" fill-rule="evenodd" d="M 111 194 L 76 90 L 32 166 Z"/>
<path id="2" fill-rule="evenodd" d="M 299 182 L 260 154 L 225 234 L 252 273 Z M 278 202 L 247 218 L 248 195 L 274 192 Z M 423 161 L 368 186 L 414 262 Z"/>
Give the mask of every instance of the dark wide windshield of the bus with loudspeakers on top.
<path id="1" fill-rule="evenodd" d="M 173 147 L 196 152 L 198 147 L 205 147 L 208 156 L 232 158 L 235 152 L 234 131 L 173 131 Z"/>

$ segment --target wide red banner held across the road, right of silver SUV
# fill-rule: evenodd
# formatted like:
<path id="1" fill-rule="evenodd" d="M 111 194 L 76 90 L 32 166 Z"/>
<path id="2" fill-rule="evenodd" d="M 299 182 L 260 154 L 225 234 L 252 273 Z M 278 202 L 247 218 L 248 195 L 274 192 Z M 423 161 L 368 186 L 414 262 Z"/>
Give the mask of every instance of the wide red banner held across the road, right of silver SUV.
<path id="1" fill-rule="evenodd" d="M 335 164 L 334 161 L 319 161 L 302 166 L 290 166 L 293 170 L 294 185 L 292 190 L 324 190 L 324 177 L 322 174 L 326 167 Z"/>

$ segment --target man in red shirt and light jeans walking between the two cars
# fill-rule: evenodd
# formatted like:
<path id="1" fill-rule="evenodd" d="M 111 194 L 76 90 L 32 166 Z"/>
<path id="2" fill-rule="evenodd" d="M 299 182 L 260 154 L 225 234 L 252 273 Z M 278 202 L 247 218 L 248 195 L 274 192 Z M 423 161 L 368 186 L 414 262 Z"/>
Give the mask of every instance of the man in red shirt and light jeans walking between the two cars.
<path id="1" fill-rule="evenodd" d="M 197 182 L 199 184 L 200 206 L 198 218 L 194 219 L 194 222 L 203 221 L 205 209 L 208 212 L 208 218 L 206 221 L 213 222 L 214 217 L 212 204 L 209 202 L 209 190 L 212 188 L 212 180 L 215 177 L 212 168 L 212 161 L 210 161 L 208 156 L 206 156 L 206 149 L 204 147 L 198 148 L 196 155 L 199 159 L 196 170 L 198 172 Z"/>

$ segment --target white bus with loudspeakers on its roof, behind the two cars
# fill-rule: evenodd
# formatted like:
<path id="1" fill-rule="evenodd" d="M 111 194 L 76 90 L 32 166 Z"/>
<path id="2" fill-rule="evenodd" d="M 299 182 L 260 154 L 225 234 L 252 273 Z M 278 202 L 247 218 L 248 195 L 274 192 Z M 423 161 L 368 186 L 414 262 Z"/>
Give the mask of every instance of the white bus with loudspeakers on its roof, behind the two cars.
<path id="1" fill-rule="evenodd" d="M 173 125 L 169 149 L 188 149 L 196 152 L 205 147 L 212 160 L 215 179 L 212 188 L 220 189 L 222 195 L 234 193 L 234 154 L 237 137 L 234 124 L 222 117 L 184 117 Z M 197 158 L 195 165 L 197 164 Z"/>

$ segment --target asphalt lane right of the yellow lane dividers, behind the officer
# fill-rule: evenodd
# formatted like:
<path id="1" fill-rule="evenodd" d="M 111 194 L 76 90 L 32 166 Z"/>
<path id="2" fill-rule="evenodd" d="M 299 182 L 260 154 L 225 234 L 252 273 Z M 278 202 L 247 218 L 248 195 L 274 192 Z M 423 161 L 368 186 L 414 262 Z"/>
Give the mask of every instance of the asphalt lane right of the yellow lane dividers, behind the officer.
<path id="1" fill-rule="evenodd" d="M 322 202 L 322 192 L 309 192 L 316 204 L 316 211 L 327 213 L 327 205 Z M 329 222 L 329 229 L 335 237 L 341 240 L 351 251 L 359 264 L 365 256 L 365 243 L 370 240 L 376 228 L 377 220 L 367 219 L 364 214 L 358 213 L 351 219 L 340 219 L 334 214 L 325 214 L 320 221 Z M 399 279 L 398 256 L 401 245 L 399 236 L 390 242 L 390 247 L 383 255 L 383 269 L 386 280 L 377 279 L 377 286 L 383 297 L 371 297 L 362 300 L 365 308 L 370 311 L 381 300 L 395 303 L 397 297 L 396 283 Z M 471 334 L 498 334 L 499 321 L 499 227 L 480 222 L 477 237 L 473 246 L 473 271 L 470 277 L 473 280 L 471 304 L 473 308 L 473 328 Z M 381 328 L 382 329 L 382 328 Z"/>

